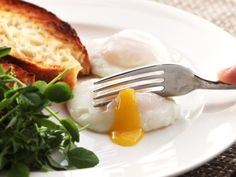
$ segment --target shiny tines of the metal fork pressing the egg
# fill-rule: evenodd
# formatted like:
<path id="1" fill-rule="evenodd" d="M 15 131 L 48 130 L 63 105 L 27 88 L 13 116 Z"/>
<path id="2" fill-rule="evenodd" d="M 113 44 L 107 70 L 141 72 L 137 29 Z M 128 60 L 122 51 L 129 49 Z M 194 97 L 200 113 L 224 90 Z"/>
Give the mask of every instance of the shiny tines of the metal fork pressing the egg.
<path id="1" fill-rule="evenodd" d="M 142 92 L 161 91 L 163 74 L 161 65 L 148 65 L 102 78 L 94 83 L 94 107 L 108 104 L 123 89 L 133 88 Z"/>

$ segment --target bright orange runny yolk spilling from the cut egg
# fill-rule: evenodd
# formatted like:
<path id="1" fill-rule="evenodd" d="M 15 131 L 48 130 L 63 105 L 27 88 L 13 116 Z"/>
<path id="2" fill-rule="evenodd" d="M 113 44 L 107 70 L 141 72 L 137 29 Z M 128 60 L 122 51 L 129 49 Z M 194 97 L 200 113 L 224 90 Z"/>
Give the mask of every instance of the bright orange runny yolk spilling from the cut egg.
<path id="1" fill-rule="evenodd" d="M 115 107 L 115 119 L 110 131 L 113 143 L 132 146 L 144 135 L 141 127 L 140 111 L 133 89 L 120 91 Z"/>

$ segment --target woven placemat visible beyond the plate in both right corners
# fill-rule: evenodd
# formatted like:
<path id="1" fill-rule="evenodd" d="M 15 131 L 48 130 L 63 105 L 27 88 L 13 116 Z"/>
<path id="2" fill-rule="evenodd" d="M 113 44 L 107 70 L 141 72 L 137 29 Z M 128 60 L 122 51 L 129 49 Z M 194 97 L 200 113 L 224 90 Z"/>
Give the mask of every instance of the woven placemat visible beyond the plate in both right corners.
<path id="1" fill-rule="evenodd" d="M 156 1 L 201 16 L 236 37 L 236 0 Z M 179 177 L 236 177 L 236 143 L 210 162 Z"/>

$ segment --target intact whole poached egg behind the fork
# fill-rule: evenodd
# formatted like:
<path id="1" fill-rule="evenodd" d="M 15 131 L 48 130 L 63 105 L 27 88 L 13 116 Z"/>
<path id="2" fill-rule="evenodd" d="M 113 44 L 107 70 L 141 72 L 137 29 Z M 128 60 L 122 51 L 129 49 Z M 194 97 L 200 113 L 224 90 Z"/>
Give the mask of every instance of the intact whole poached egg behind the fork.
<path id="1" fill-rule="evenodd" d="M 92 73 L 100 77 L 147 64 L 171 62 L 165 45 L 156 37 L 138 30 L 123 30 L 94 39 L 86 47 Z"/>

